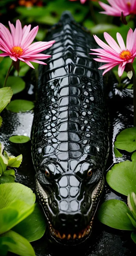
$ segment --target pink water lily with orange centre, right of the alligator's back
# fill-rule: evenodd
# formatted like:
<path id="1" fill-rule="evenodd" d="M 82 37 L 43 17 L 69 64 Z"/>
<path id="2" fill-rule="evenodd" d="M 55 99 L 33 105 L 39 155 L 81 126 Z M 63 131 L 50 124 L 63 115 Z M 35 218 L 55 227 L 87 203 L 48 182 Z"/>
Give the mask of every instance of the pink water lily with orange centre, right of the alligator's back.
<path id="1" fill-rule="evenodd" d="M 121 77 L 126 65 L 133 63 L 136 56 L 136 29 L 134 32 L 132 29 L 129 29 L 126 46 L 120 33 L 117 33 L 116 37 L 118 44 L 108 33 L 104 32 L 104 38 L 108 43 L 107 45 L 94 35 L 96 43 L 103 49 L 90 49 L 93 51 L 93 53 L 90 54 L 97 55 L 98 58 L 94 58 L 94 60 L 107 63 L 99 67 L 99 69 L 105 69 L 103 75 L 116 65 L 119 65 L 118 75 Z"/>

